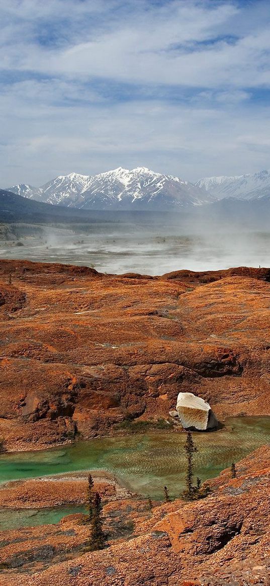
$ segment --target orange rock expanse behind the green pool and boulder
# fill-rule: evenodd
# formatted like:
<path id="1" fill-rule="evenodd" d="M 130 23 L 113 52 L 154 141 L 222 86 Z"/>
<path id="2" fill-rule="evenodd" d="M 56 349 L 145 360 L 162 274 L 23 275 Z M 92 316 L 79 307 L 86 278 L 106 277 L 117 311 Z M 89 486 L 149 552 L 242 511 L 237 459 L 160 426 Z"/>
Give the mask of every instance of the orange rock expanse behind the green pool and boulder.
<path id="1" fill-rule="evenodd" d="M 102 275 L 0 261 L 4 449 L 168 418 L 179 391 L 220 420 L 270 414 L 270 270 Z"/>

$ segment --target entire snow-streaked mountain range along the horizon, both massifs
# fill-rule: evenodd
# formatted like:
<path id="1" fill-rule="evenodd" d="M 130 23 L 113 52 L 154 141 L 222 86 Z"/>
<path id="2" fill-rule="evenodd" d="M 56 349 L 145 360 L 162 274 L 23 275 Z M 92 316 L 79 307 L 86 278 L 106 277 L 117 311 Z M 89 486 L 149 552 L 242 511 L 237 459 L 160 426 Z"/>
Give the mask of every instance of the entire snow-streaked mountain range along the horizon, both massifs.
<path id="1" fill-rule="evenodd" d="M 38 202 L 82 210 L 177 210 L 220 199 L 270 197 L 270 171 L 234 177 L 209 177 L 190 183 L 145 167 L 119 167 L 98 175 L 59 175 L 41 187 L 13 185 L 9 192 Z"/>

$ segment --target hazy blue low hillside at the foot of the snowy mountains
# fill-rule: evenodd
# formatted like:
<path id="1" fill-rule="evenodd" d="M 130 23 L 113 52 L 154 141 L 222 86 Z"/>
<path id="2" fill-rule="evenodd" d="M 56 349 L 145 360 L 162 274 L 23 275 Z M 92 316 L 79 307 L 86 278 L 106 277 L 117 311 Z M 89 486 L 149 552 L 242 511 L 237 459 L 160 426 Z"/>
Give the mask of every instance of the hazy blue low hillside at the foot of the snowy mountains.
<path id="1" fill-rule="evenodd" d="M 188 206 L 181 212 L 146 210 L 81 210 L 36 202 L 0 189 L 0 222 L 28 224 L 125 223 L 145 226 L 173 224 L 190 233 L 207 230 L 269 230 L 270 197 L 244 201 L 233 197 L 201 206 Z"/>

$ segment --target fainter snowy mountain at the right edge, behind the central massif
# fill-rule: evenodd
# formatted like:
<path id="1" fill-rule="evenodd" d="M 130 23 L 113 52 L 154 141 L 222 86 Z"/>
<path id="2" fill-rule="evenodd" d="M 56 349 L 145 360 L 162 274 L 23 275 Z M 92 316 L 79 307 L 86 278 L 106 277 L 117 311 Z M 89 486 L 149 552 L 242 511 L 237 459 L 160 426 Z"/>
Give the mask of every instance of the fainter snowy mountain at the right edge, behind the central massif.
<path id="1" fill-rule="evenodd" d="M 197 188 L 205 189 L 217 199 L 224 199 L 224 197 L 261 199 L 270 195 L 270 171 L 236 177 L 206 177 L 199 179 L 195 185 Z"/>

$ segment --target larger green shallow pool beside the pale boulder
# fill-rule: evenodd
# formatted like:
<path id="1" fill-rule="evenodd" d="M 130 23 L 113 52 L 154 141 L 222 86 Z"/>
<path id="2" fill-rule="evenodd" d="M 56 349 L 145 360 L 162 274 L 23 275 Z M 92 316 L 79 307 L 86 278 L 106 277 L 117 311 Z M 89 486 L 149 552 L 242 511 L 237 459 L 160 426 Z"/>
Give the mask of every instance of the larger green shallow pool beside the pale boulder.
<path id="1" fill-rule="evenodd" d="M 199 449 L 194 475 L 204 481 L 270 442 L 270 417 L 230 418 L 227 429 L 194 433 Z M 178 496 L 184 485 L 183 432 L 159 431 L 78 441 L 42 452 L 1 454 L 0 482 L 82 470 L 107 470 L 132 490 L 162 498 L 163 486 Z"/>

